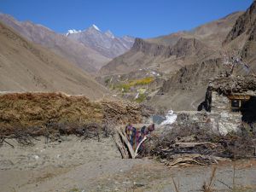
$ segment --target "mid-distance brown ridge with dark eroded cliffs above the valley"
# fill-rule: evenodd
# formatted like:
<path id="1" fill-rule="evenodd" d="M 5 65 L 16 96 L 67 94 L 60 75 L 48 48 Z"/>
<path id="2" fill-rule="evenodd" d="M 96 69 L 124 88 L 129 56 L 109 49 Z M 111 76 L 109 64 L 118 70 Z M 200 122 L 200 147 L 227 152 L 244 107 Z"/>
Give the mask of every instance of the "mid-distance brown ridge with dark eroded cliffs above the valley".
<path id="1" fill-rule="evenodd" d="M 207 47 L 196 38 L 180 38 L 174 46 L 154 44 L 136 38 L 130 51 L 114 58 L 102 67 L 99 73 L 103 75 L 131 73 L 145 67 L 168 73 L 214 53 L 216 53 L 214 49 Z"/>

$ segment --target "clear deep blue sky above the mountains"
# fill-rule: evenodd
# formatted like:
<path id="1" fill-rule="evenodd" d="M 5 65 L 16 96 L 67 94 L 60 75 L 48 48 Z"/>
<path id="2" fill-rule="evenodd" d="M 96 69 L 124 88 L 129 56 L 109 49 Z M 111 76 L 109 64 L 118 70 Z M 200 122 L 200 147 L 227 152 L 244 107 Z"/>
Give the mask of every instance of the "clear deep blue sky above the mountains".
<path id="1" fill-rule="evenodd" d="M 0 0 L 0 12 L 55 32 L 87 28 L 139 38 L 189 30 L 246 10 L 253 0 Z"/>

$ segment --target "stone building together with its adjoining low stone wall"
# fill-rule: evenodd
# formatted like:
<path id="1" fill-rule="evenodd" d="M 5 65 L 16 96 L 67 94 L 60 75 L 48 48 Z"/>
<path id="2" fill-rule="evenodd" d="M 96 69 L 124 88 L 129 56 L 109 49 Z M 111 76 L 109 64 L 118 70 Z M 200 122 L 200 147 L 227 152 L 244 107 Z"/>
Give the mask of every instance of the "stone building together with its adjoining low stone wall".
<path id="1" fill-rule="evenodd" d="M 198 111 L 176 112 L 177 119 L 169 127 L 203 129 L 226 135 L 248 125 L 256 131 L 256 77 L 220 76 L 209 83 L 205 101 Z"/>

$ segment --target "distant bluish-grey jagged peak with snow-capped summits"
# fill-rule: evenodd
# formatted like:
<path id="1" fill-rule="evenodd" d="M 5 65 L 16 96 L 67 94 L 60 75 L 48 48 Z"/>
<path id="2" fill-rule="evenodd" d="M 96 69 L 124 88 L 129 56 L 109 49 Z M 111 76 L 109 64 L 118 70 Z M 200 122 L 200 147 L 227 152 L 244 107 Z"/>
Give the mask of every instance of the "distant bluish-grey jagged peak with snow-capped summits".
<path id="1" fill-rule="evenodd" d="M 92 25 L 84 31 L 69 30 L 67 38 L 76 40 L 110 59 L 124 54 L 131 49 L 134 43 L 134 38 L 130 36 L 118 38 L 109 30 L 102 32 L 96 25 Z"/>

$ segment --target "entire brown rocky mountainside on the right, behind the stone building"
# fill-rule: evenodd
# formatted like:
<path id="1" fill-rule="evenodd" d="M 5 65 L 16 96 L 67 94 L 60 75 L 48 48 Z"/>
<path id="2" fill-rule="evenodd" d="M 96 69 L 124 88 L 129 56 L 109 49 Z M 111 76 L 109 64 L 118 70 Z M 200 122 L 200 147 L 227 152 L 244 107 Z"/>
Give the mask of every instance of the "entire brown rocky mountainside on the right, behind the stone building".
<path id="1" fill-rule="evenodd" d="M 230 73 L 232 64 L 235 63 L 234 75 L 256 71 L 254 18 L 255 2 L 245 13 L 227 15 L 189 32 L 136 39 L 130 51 L 110 61 L 100 73 L 109 79 L 144 69 L 154 71 L 160 74 L 154 81 L 162 84 L 158 84 L 158 90 L 150 90 L 154 81 L 143 87 L 143 93 L 147 93 L 143 102 L 160 111 L 196 110 L 204 100 L 208 82 Z M 134 98 L 140 89 L 133 87 L 122 95 L 133 92 Z"/>

